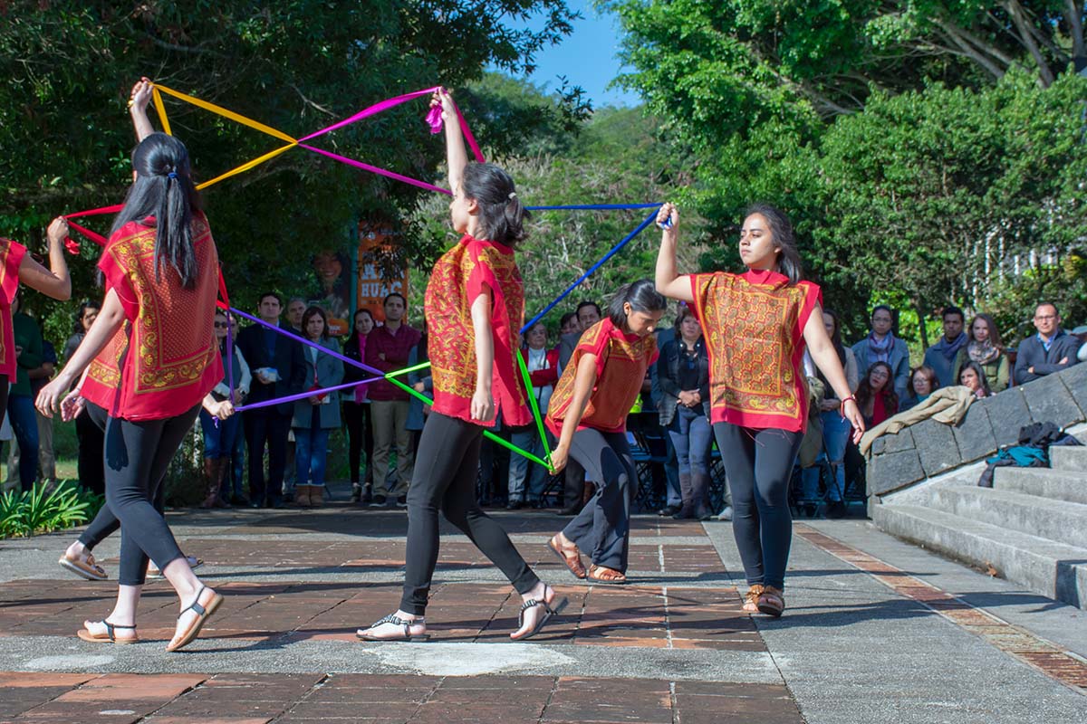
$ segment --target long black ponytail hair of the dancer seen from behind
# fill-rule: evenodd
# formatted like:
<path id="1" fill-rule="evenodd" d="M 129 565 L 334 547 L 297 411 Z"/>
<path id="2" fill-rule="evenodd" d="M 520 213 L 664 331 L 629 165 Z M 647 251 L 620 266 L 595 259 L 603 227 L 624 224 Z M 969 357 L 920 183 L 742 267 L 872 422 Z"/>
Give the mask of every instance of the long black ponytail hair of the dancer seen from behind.
<path id="1" fill-rule="evenodd" d="M 167 263 L 177 270 L 182 284 L 192 289 L 198 271 L 192 249 L 192 215 L 202 206 L 200 192 L 192 183 L 189 152 L 173 136 L 151 134 L 133 151 L 133 169 L 136 180 L 110 233 L 129 221 L 153 216 L 154 278 L 160 278 L 160 265 Z"/>

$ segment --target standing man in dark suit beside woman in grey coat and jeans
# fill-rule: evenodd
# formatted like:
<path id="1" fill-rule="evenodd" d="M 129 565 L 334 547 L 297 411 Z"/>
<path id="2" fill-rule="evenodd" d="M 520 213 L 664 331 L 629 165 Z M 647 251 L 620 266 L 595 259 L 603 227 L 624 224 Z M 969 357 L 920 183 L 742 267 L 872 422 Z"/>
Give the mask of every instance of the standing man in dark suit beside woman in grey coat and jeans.
<path id="1" fill-rule="evenodd" d="M 279 313 L 283 302 L 275 292 L 261 295 L 258 315 L 283 327 Z M 263 325 L 251 325 L 238 334 L 238 348 L 253 371 L 248 404 L 275 399 L 302 392 L 305 359 L 302 346 Z M 249 447 L 249 505 L 260 508 L 283 507 L 283 472 L 286 462 L 287 434 L 295 411 L 292 403 L 280 403 L 242 412 L 246 444 Z M 268 449 L 267 486 L 264 478 L 264 446 Z"/>

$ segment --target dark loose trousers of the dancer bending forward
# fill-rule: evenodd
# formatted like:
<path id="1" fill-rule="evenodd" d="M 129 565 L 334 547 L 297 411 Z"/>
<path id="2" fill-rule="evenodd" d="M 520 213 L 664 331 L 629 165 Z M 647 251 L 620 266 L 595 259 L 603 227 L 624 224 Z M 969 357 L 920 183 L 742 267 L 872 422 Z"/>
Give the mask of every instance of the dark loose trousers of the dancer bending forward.
<path id="1" fill-rule="evenodd" d="M 597 566 L 625 573 L 630 542 L 630 486 L 638 480 L 626 433 L 578 430 L 570 444 L 570 457 L 582 463 L 592 480 L 601 482 L 562 534 L 589 554 Z"/>

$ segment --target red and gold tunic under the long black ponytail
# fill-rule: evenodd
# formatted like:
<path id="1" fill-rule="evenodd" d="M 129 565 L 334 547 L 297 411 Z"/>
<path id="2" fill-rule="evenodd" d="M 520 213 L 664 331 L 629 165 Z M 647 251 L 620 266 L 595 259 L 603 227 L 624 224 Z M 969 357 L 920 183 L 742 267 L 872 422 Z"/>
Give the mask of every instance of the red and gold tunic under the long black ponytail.
<path id="1" fill-rule="evenodd" d="M 223 379 L 212 320 L 218 290 L 218 255 L 208 220 L 192 219 L 197 283 L 182 285 L 177 271 L 154 274 L 154 219 L 126 224 L 110 237 L 98 268 L 132 322 L 128 354 L 113 417 L 158 420 L 199 404 Z M 110 408 L 107 408 L 110 409 Z"/>

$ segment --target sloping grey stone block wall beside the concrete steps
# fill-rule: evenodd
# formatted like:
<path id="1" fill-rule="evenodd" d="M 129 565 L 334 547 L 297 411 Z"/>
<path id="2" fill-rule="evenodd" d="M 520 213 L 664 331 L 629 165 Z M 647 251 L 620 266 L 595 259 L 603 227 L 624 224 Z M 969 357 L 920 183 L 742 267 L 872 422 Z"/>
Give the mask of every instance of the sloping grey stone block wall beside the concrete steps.
<path id="1" fill-rule="evenodd" d="M 1019 442 L 1020 428 L 1053 422 L 1062 428 L 1087 420 L 1087 364 L 975 402 L 955 427 L 925 420 L 872 445 L 869 495 L 878 497 L 952 468 L 992 456 Z"/>

